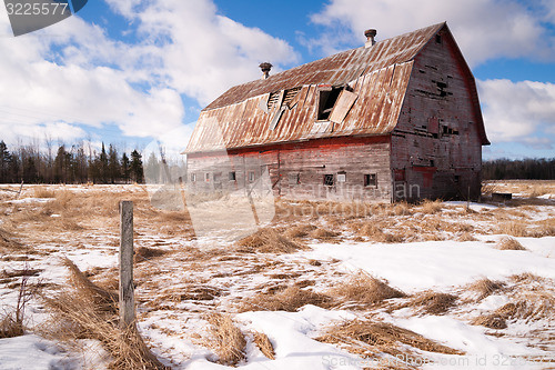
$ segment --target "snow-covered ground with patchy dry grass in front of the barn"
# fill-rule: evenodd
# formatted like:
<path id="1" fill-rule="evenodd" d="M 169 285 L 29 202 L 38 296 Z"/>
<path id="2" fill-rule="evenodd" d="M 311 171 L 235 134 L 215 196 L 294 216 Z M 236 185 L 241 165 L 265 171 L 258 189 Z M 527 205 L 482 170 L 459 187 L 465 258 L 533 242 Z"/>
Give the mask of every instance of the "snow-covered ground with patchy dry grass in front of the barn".
<path id="1" fill-rule="evenodd" d="M 205 316 L 211 312 L 231 313 L 244 333 L 246 347 L 239 367 L 245 369 L 555 366 L 553 306 L 543 307 L 547 310 L 532 319 L 507 319 L 505 329 L 472 323 L 476 317 L 509 302 L 553 297 L 555 201 L 548 197 L 538 196 L 542 202 L 529 203 L 472 203 L 472 211 L 465 210 L 465 202 L 445 202 L 430 214 L 420 206 L 411 206 L 408 212 L 400 214 L 383 211 L 365 218 L 280 218 L 278 212 L 272 228 L 283 234 L 294 226 L 307 223 L 339 234 L 321 240 L 311 234 L 300 237 L 295 240 L 306 248 L 293 253 L 248 253 L 220 239 L 211 242 L 203 237 L 200 243 L 186 218 L 150 207 L 144 187 L 48 187 L 57 193 L 56 198 L 37 198 L 33 188 L 26 187 L 19 200 L 14 200 L 13 191 L 2 189 L 19 187 L 0 186 L 0 228 L 28 248 L 0 244 L 0 314 L 17 304 L 21 281 L 18 271 L 32 270 L 30 282 L 40 282 L 47 297 L 64 286 L 68 271 L 61 263 L 62 257 L 71 259 L 99 284 L 117 289 L 117 204 L 118 200 L 132 199 L 135 248 L 167 252 L 135 264 L 139 328 L 151 350 L 174 369 L 226 368 L 213 362 L 214 350 L 199 341 L 210 338 Z M 501 233 L 500 227 L 506 223 L 519 223 L 525 230 L 542 230 L 544 234 L 535 231 L 534 237 L 514 237 L 525 250 L 500 250 L 497 242 L 507 236 Z M 403 240 L 373 240 L 372 234 L 357 232 L 364 224 L 379 224 L 392 234 L 398 232 Z M 436 232 L 430 236 L 434 228 Z M 458 241 L 463 233 L 473 240 Z M 408 297 L 366 304 L 363 309 L 349 304 L 306 304 L 291 312 L 242 309 L 249 299 L 260 293 L 270 298 L 285 287 L 330 294 L 334 287 L 360 271 L 386 281 Z M 518 276 L 532 278 L 518 280 Z M 468 286 L 484 278 L 502 282 L 504 288 L 487 297 L 474 297 Z M 196 288 L 210 288 L 215 293 L 203 299 L 184 294 Z M 437 314 L 404 304 L 427 291 L 456 296 L 457 303 Z M 42 338 L 41 326 L 48 313 L 37 296 L 27 307 L 26 334 L 0 339 L 0 369 L 101 369 L 108 364 L 109 357 L 99 342 L 83 341 L 78 351 Z M 401 343 L 398 348 L 406 351 L 405 357 L 400 357 L 403 362 L 362 342 L 355 343 L 361 349 L 356 352 L 353 343 L 316 340 L 330 327 L 355 320 L 392 323 L 464 354 L 424 351 Z M 270 339 L 274 360 L 254 344 L 255 331 Z"/>

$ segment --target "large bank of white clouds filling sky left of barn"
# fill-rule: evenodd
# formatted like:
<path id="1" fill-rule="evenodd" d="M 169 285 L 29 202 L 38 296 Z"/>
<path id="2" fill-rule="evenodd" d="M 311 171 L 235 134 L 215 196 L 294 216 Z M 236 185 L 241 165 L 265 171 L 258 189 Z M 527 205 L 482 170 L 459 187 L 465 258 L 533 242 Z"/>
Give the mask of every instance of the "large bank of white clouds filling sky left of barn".
<path id="1" fill-rule="evenodd" d="M 285 41 L 219 16 L 211 0 L 108 2 L 137 38 L 114 40 L 79 17 L 0 38 L 2 139 L 77 139 L 87 126 L 158 137 L 196 118 L 183 99 L 204 106 L 258 78 L 261 61 L 296 60 Z M 4 13 L 0 30 L 11 33 Z"/>

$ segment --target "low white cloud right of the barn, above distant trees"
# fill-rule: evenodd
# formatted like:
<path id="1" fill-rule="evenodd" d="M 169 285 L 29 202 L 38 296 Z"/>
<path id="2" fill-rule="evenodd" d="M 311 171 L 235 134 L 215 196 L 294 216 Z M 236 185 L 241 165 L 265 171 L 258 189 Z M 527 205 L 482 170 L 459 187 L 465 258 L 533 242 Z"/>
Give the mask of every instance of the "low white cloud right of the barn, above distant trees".
<path id="1" fill-rule="evenodd" d="M 509 80 L 477 82 L 492 142 L 515 141 L 536 149 L 555 144 L 555 84 Z"/>

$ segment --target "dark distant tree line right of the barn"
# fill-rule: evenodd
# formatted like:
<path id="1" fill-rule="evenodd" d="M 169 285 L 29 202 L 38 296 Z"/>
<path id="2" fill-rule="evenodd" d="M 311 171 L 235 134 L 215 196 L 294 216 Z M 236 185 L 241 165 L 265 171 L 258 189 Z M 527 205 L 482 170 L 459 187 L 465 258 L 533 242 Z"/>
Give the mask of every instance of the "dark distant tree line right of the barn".
<path id="1" fill-rule="evenodd" d="M 496 159 L 482 164 L 484 180 L 555 180 L 555 158 Z"/>

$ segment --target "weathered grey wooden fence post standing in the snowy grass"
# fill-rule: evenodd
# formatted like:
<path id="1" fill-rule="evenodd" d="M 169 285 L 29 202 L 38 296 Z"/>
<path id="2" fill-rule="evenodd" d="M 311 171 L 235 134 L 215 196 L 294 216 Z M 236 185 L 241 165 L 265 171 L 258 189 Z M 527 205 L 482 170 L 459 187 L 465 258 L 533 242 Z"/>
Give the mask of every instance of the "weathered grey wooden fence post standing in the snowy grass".
<path id="1" fill-rule="evenodd" d="M 135 320 L 133 286 L 133 202 L 120 202 L 120 326 Z"/>

